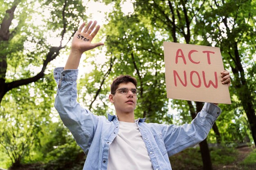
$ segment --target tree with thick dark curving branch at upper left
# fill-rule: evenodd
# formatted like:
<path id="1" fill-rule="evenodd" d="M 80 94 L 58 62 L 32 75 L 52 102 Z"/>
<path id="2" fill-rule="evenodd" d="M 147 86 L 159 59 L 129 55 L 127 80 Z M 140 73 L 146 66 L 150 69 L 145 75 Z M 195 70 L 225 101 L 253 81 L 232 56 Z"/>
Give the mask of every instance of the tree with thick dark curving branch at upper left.
<path id="1" fill-rule="evenodd" d="M 36 11 L 38 3 L 42 7 Z M 0 103 L 11 89 L 36 82 L 45 75 L 49 62 L 65 48 L 80 20 L 84 19 L 85 8 L 78 0 L 14 0 L 3 5 L 7 10 L 5 13 L 1 11 L 0 16 Z M 47 16 L 43 11 L 50 13 Z M 33 15 L 38 16 L 38 20 L 43 18 L 38 26 L 34 25 Z M 47 34 L 56 34 L 59 45 L 49 44 Z M 29 68 L 32 66 L 40 68 L 40 71 L 31 71 Z"/>

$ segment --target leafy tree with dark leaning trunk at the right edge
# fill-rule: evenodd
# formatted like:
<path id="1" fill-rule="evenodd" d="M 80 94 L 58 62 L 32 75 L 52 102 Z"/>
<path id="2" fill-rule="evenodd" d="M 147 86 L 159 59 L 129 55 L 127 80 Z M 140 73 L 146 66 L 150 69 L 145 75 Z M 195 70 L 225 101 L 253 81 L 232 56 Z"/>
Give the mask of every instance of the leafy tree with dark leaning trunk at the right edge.
<path id="1" fill-rule="evenodd" d="M 198 26 L 202 26 L 204 41 L 220 46 L 224 62 L 234 74 L 233 89 L 240 99 L 247 115 L 254 144 L 256 145 L 255 95 L 255 2 L 209 1 L 205 13 L 198 17 Z M 211 15 L 216 13 L 216 15 Z"/>

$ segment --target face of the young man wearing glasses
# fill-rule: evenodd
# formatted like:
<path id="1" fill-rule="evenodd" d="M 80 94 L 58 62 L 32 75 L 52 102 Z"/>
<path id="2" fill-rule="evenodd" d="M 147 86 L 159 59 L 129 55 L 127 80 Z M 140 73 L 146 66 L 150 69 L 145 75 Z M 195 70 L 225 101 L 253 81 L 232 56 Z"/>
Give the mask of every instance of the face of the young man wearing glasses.
<path id="1" fill-rule="evenodd" d="M 118 85 L 117 90 L 120 88 L 136 89 L 132 82 L 121 83 Z M 117 91 L 114 95 L 110 94 L 109 100 L 114 104 L 117 113 L 133 113 L 137 104 L 137 96 L 128 91 L 126 95 Z"/>

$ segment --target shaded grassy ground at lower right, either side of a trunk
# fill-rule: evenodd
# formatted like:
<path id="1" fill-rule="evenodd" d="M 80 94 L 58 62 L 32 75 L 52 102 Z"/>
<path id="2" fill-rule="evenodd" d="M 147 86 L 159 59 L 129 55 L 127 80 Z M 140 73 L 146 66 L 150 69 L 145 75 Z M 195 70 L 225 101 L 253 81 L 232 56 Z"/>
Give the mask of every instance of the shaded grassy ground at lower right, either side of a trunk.
<path id="1" fill-rule="evenodd" d="M 214 170 L 223 167 L 235 167 L 234 170 L 255 170 L 256 150 L 250 152 L 242 162 L 240 152 L 236 148 L 210 148 L 211 162 Z M 202 170 L 200 148 L 189 148 L 169 158 L 173 170 Z M 233 169 L 232 168 L 232 169 Z M 238 169 L 236 169 L 238 168 Z M 225 168 L 229 170 L 228 168 Z"/>

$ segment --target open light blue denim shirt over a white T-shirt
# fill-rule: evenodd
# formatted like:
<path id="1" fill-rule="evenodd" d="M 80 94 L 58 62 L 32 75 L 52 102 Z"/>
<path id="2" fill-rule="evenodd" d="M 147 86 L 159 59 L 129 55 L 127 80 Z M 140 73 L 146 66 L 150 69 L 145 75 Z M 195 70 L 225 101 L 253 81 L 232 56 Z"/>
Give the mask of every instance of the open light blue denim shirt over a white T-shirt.
<path id="1" fill-rule="evenodd" d="M 78 70 L 54 69 L 58 84 L 55 108 L 76 143 L 87 155 L 83 170 L 107 170 L 109 146 L 119 131 L 116 115 L 94 115 L 76 101 Z M 171 170 L 169 158 L 204 140 L 220 115 L 218 106 L 205 103 L 191 124 L 182 126 L 146 123 L 145 118 L 135 120 L 154 170 Z M 117 160 L 118 161 L 118 160 Z"/>

